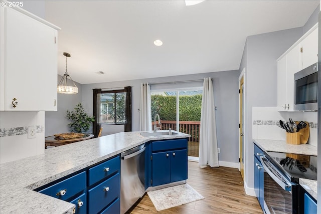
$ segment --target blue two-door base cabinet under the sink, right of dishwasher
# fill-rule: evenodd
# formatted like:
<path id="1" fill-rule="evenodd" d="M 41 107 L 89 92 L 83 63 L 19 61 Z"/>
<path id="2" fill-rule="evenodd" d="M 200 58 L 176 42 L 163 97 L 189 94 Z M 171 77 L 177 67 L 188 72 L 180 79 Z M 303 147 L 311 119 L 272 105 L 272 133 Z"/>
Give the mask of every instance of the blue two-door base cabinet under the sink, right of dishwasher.
<path id="1" fill-rule="evenodd" d="M 146 182 L 158 186 L 187 179 L 187 139 L 152 141 L 147 145 Z"/>

